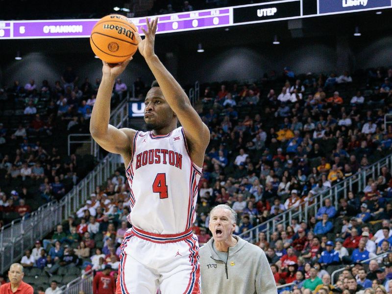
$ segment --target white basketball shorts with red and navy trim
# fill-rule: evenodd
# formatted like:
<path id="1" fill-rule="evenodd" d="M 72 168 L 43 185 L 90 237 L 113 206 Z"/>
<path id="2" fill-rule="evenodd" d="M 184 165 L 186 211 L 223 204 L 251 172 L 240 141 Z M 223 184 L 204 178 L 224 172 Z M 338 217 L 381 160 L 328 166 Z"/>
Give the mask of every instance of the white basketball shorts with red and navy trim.
<path id="1" fill-rule="evenodd" d="M 199 246 L 189 229 L 158 235 L 136 227 L 121 245 L 116 294 L 199 294 Z"/>

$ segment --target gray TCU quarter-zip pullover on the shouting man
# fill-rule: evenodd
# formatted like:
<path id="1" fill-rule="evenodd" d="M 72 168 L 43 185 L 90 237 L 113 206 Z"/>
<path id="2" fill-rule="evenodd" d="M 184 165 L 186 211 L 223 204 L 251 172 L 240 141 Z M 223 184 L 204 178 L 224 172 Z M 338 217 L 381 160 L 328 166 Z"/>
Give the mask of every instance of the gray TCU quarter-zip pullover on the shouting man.
<path id="1" fill-rule="evenodd" d="M 202 294 L 277 294 L 264 251 L 238 236 L 227 260 L 215 253 L 214 238 L 200 248 Z M 233 250 L 233 251 L 230 251 Z"/>

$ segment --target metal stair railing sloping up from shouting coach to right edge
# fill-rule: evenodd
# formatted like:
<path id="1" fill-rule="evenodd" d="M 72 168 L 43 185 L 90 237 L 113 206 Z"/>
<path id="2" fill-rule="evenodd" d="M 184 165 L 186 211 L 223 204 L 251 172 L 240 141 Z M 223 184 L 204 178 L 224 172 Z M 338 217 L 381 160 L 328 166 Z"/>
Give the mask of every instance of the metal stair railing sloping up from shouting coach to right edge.
<path id="1" fill-rule="evenodd" d="M 342 182 L 332 186 L 330 189 L 313 196 L 305 203 L 302 203 L 297 208 L 290 208 L 276 217 L 265 221 L 257 226 L 251 228 L 240 234 L 240 237 L 245 238 L 251 242 L 259 241 L 259 233 L 265 232 L 267 235 L 267 240 L 270 241 L 270 234 L 276 231 L 276 226 L 282 224 L 284 229 L 291 223 L 293 218 L 300 217 L 301 220 L 308 221 L 309 214 L 313 210 L 314 215 L 317 214 L 318 209 L 323 205 L 323 201 L 326 198 L 333 200 L 335 208 L 338 208 L 338 200 L 340 197 L 344 196 L 347 198 L 347 192 L 351 191 L 353 186 L 357 185 L 358 190 L 363 190 L 367 185 L 367 177 L 371 175 L 375 178 L 376 173 L 379 174 L 381 168 L 392 166 L 392 154 L 384 157 L 383 159 L 377 161 L 373 165 L 369 166 L 367 169 L 357 172 L 356 174 L 350 176 L 349 178 L 343 180 Z"/>

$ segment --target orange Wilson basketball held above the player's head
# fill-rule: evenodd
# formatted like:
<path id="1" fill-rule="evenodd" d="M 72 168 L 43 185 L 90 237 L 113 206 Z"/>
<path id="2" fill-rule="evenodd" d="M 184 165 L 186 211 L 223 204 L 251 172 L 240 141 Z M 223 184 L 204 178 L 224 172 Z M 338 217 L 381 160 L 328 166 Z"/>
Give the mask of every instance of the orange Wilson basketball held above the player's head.
<path id="1" fill-rule="evenodd" d="M 119 14 L 107 15 L 91 31 L 91 48 L 107 63 L 123 62 L 138 49 L 136 31 L 137 27 L 126 17 Z"/>

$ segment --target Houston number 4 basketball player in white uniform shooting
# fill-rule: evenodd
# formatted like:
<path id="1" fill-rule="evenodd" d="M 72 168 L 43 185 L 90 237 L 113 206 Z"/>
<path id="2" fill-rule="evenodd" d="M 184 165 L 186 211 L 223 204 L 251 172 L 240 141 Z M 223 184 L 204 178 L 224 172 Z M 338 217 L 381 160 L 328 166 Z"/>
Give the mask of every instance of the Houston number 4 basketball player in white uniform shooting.
<path id="1" fill-rule="evenodd" d="M 156 78 L 145 99 L 149 131 L 109 125 L 113 85 L 130 60 L 116 66 L 103 63 L 90 121 L 94 140 L 123 157 L 131 187 L 128 221 L 133 227 L 121 245 L 116 293 L 156 294 L 158 288 L 163 294 L 200 293 L 198 244 L 191 225 L 210 133 L 155 55 L 156 28 L 157 19 L 147 19 L 145 39 L 136 34 Z M 182 127 L 177 128 L 177 121 Z"/>

